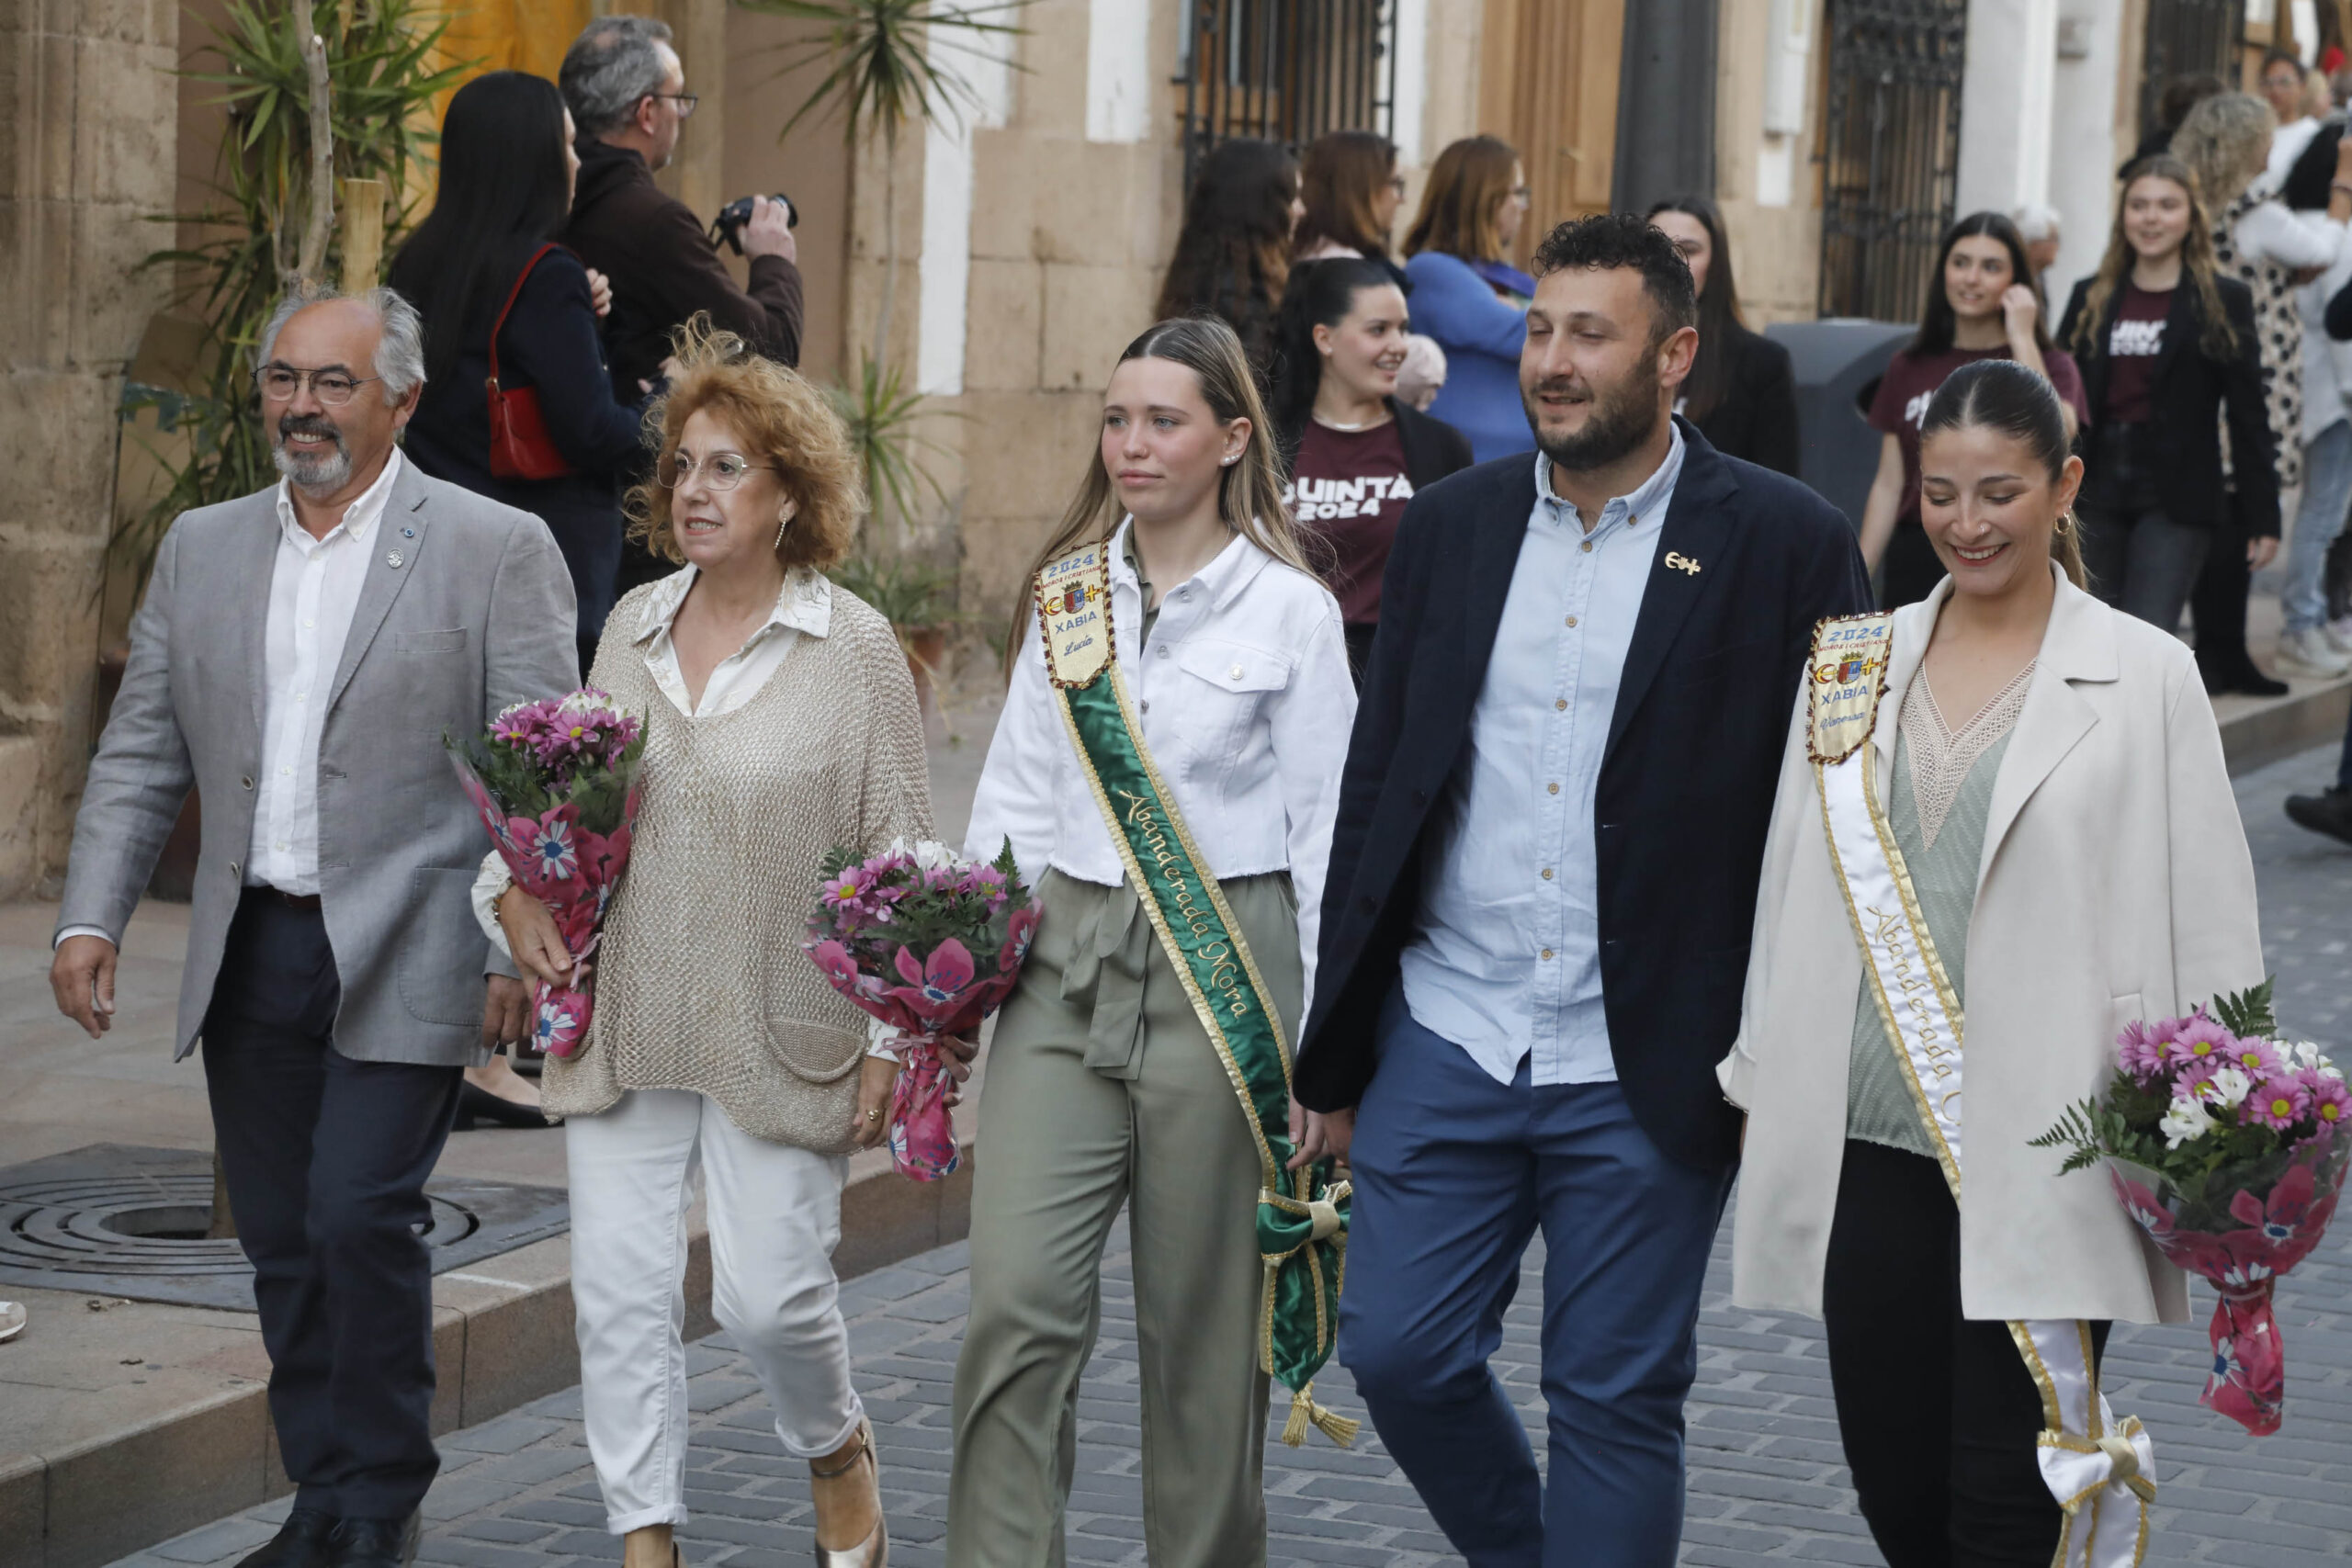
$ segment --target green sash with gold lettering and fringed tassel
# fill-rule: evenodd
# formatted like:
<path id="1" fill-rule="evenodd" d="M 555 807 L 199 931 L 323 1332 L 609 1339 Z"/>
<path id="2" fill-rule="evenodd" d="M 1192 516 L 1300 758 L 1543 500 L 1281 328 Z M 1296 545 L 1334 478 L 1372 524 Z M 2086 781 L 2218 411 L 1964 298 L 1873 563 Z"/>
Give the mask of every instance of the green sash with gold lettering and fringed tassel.
<path id="1" fill-rule="evenodd" d="M 1108 541 L 1049 562 L 1035 583 L 1047 677 L 1061 698 L 1070 743 L 1087 769 L 1094 804 L 1127 879 L 1183 980 L 1192 1011 L 1225 1063 L 1242 1117 L 1258 1145 L 1258 1255 L 1265 1286 L 1258 1309 L 1258 1363 L 1291 1389 L 1282 1441 L 1298 1446 L 1308 1425 L 1336 1443 L 1355 1441 L 1357 1422 L 1315 1403 L 1315 1373 L 1338 1335 L 1338 1288 L 1348 1255 L 1348 1182 L 1331 1182 L 1329 1161 L 1284 1171 L 1291 1060 L 1282 1020 L 1265 1004 L 1265 980 L 1202 863 L 1192 835 L 1143 748 L 1127 682 L 1110 642 Z"/>

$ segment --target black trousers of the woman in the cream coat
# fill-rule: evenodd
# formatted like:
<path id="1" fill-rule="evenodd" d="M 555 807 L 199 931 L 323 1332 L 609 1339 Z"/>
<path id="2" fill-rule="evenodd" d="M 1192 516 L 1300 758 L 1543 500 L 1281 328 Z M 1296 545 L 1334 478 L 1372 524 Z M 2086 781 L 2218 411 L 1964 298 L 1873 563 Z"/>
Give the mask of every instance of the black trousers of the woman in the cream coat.
<path id="1" fill-rule="evenodd" d="M 1849 1140 L 1823 1274 L 1837 1432 L 1889 1568 L 2049 1568 L 2042 1394 L 2009 1324 L 1959 1314 L 1959 1208 L 1933 1159 Z M 2107 1324 L 2091 1324 L 2096 1352 Z"/>

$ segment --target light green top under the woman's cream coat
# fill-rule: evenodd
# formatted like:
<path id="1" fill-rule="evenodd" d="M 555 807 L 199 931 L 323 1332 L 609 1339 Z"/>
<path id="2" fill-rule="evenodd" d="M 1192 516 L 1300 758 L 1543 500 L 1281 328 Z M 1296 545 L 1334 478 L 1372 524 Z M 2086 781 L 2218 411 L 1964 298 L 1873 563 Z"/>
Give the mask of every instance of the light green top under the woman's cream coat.
<path id="1" fill-rule="evenodd" d="M 1945 729 L 1924 677 L 1915 679 L 1903 698 L 1886 816 L 1896 849 L 1910 867 L 1929 940 L 1936 943 L 1943 973 L 1952 980 L 1952 997 L 1962 1004 L 1969 997 L 1969 919 L 1976 914 L 1985 816 L 2032 672 L 2034 668 L 2025 665 L 1959 733 Z M 1962 1058 L 1966 1058 L 1966 1034 L 1962 1034 Z M 1936 1157 L 1936 1145 L 1929 1143 L 1926 1124 L 1919 1119 L 1919 1100 L 1905 1081 L 1903 1060 L 1879 1020 L 1867 971 L 1853 999 L 1846 1138 Z"/>

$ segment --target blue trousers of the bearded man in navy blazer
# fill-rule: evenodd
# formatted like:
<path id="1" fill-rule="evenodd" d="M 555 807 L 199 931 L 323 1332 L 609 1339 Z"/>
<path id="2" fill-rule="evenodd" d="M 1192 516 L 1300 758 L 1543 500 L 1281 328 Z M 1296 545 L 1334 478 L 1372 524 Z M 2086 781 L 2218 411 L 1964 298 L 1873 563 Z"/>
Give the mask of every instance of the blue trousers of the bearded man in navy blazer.
<path id="1" fill-rule="evenodd" d="M 1616 1084 L 1496 1084 L 1402 994 L 1378 1048 L 1338 1307 L 1371 1425 L 1470 1568 L 1670 1568 L 1731 1171 L 1665 1159 Z M 1548 1483 L 1486 1368 L 1538 1225 Z"/>

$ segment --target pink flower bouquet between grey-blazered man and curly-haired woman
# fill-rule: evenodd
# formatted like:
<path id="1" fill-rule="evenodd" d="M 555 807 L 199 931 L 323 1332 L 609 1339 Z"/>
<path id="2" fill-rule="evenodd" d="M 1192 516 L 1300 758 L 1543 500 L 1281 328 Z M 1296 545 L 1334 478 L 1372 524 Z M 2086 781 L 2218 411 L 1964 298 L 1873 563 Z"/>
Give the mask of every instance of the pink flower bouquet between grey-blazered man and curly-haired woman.
<path id="1" fill-rule="evenodd" d="M 487 736 L 445 736 L 442 745 L 506 870 L 548 905 L 572 957 L 586 959 L 604 936 L 604 907 L 628 865 L 644 724 L 581 686 L 515 703 Z M 590 992 L 541 980 L 532 994 L 534 1044 L 572 1056 L 593 1009 Z"/>

